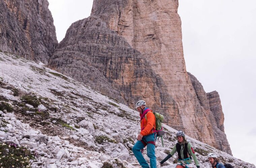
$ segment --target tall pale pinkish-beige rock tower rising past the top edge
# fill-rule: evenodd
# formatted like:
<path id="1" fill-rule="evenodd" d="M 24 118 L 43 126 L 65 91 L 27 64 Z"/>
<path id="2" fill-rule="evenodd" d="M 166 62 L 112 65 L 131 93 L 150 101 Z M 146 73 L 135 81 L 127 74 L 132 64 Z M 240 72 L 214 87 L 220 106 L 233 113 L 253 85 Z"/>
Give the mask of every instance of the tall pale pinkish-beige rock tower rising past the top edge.
<path id="1" fill-rule="evenodd" d="M 212 112 L 203 103 L 207 98 L 197 97 L 186 72 L 177 11 L 178 0 L 94 0 L 91 15 L 104 20 L 149 61 L 178 104 L 185 133 L 220 149 Z"/>

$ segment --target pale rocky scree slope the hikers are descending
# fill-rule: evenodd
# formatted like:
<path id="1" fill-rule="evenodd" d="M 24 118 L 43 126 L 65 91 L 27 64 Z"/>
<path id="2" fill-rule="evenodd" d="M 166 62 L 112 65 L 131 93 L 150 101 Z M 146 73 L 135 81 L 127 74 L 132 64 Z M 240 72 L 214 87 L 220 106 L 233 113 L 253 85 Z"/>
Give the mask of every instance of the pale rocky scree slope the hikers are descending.
<path id="1" fill-rule="evenodd" d="M 165 146 L 156 143 L 159 167 L 176 143 L 177 130 L 164 129 Z M 0 153 L 1 164 L 15 148 L 29 151 L 20 156 L 28 167 L 140 167 L 131 151 L 139 130 L 139 114 L 133 109 L 44 66 L 0 52 L 0 150 L 8 148 L 6 156 Z M 201 167 L 210 168 L 205 162 L 210 152 L 222 163 L 255 167 L 188 139 Z M 174 168 L 176 162 L 174 155 L 162 167 Z"/>

